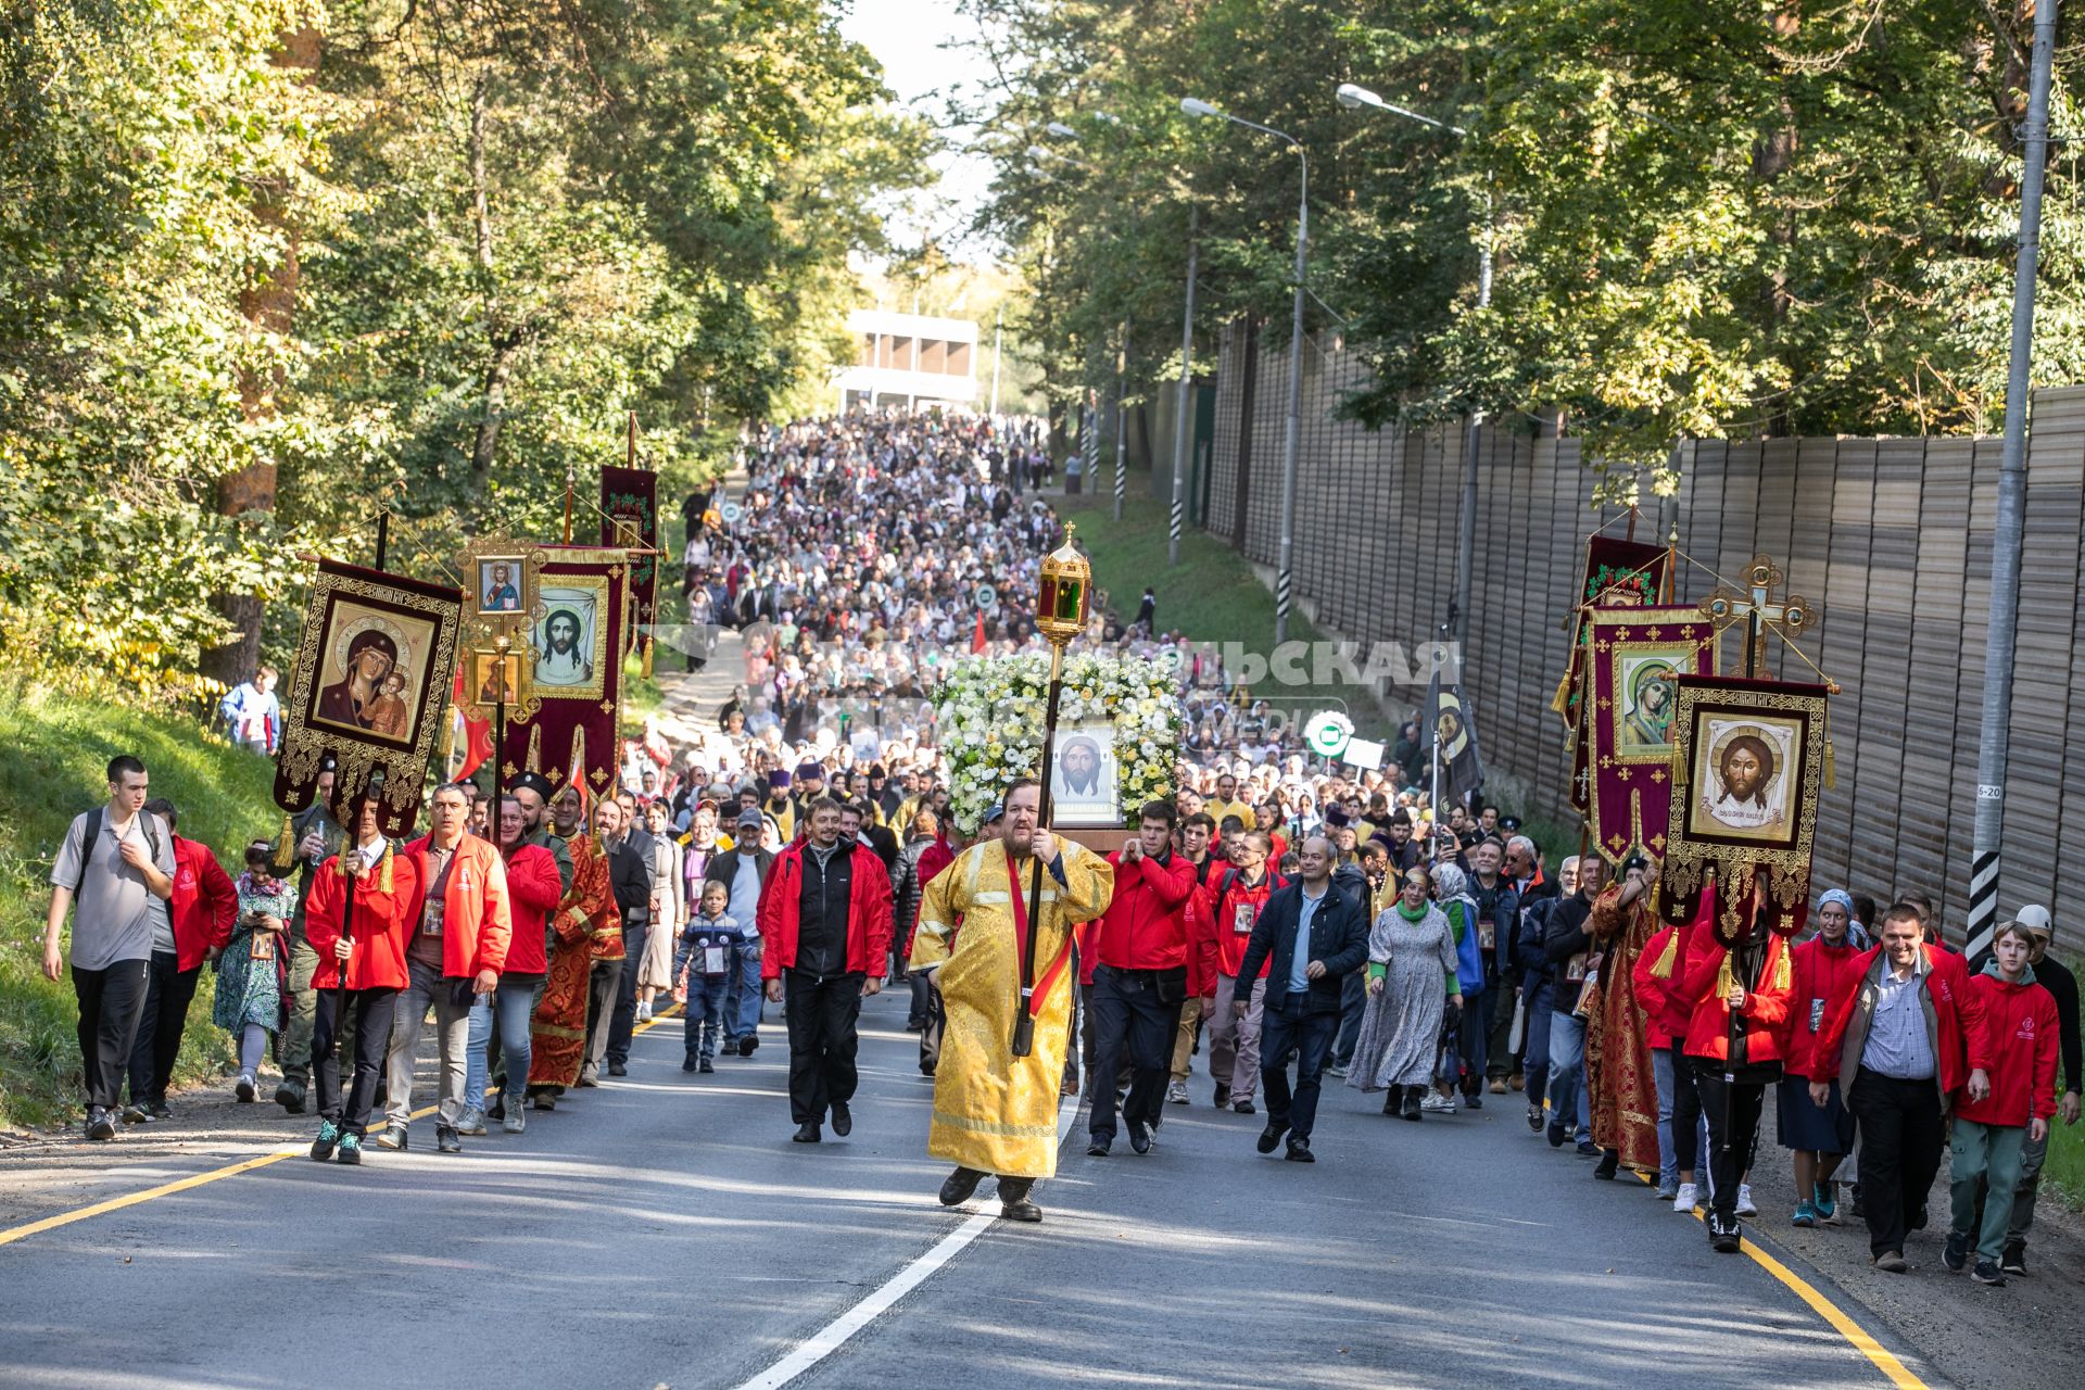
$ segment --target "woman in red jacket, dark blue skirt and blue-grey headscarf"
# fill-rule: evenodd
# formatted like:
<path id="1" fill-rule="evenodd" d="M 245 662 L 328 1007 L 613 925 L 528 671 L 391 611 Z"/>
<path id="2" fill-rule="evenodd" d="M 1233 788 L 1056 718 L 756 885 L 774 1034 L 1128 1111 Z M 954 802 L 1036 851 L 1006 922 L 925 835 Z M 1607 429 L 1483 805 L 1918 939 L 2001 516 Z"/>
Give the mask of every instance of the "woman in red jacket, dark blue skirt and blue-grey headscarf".
<path id="1" fill-rule="evenodd" d="M 1779 1092 L 1781 1146 L 1795 1155 L 1795 1225 L 1839 1223 L 1839 1188 L 1833 1173 L 1854 1150 L 1854 1115 L 1839 1096 L 1839 1059 L 1820 1057 L 1818 1027 L 1831 1000 L 1851 994 L 1849 975 L 1860 973 L 1862 950 L 1854 944 L 1854 896 L 1833 888 L 1818 898 L 1818 934 L 1789 952 L 1793 992 L 1789 996 L 1787 1079 Z M 1810 1098 L 1810 1082 L 1831 1082 L 1824 1104 Z"/>

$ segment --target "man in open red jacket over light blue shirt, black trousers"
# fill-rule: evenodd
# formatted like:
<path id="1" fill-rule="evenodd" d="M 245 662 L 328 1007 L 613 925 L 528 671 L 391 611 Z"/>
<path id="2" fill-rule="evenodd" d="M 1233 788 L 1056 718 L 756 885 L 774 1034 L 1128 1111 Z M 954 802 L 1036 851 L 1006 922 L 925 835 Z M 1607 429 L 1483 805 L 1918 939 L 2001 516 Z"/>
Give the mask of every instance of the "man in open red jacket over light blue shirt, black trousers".
<path id="1" fill-rule="evenodd" d="M 1824 1011 L 1810 1098 L 1839 1090 L 1860 1123 L 1860 1207 L 1876 1269 L 1904 1273 L 1904 1238 L 1927 1223 L 1927 1194 L 1941 1167 L 1947 1098 L 1991 1094 L 1983 1004 L 1960 954 L 1924 944 L 1924 919 L 1897 902 L 1883 913 L 1883 944 L 1849 971 Z"/>

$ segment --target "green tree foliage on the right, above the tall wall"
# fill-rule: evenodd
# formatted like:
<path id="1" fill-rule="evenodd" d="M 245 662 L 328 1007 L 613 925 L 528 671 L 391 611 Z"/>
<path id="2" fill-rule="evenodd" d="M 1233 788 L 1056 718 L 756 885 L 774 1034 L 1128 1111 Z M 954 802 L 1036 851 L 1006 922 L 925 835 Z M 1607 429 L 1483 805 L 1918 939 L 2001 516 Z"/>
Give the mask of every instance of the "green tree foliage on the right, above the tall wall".
<path id="1" fill-rule="evenodd" d="M 2031 8 L 1985 0 L 972 0 L 999 183 L 1059 396 L 1132 311 L 1166 375 L 1186 208 L 1203 331 L 1286 336 L 1295 171 L 1180 115 L 1197 96 L 1311 160 L 1311 327 L 1362 419 L 1562 413 L 1618 483 L 1683 436 L 1989 429 L 2004 411 Z M 2085 60 L 2058 48 L 2058 135 Z M 1468 131 L 1345 110 L 1355 81 Z M 1101 119 L 1107 113 L 1115 121 Z M 1049 121 L 1076 142 L 1051 142 Z M 1074 148 L 1045 177 L 1030 146 Z M 2050 169 L 2037 377 L 2085 369 L 2081 183 Z M 1049 169 L 1049 160 L 1045 160 Z M 1478 246 L 1495 258 L 1478 304 Z M 1149 313 L 1147 313 L 1149 302 Z M 1670 477 L 1660 477 L 1670 483 Z"/>

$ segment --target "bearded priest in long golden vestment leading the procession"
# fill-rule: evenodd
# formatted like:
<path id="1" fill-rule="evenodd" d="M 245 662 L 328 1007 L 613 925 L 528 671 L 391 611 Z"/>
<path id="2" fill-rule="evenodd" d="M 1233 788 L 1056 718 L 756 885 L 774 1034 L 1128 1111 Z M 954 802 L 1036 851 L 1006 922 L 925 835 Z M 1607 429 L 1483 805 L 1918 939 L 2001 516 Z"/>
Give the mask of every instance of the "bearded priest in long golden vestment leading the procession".
<path id="1" fill-rule="evenodd" d="M 1040 1221 L 1028 1200 L 1057 1171 L 1057 1088 L 1072 1040 L 1072 929 L 1107 911 L 1115 871 L 1093 850 L 1036 825 L 1042 788 L 1024 777 L 1007 792 L 999 836 L 980 840 L 934 875 L 919 904 L 911 969 L 932 969 L 947 1027 L 934 1069 L 934 1121 L 926 1150 L 955 1163 L 945 1207 L 999 1177 L 1003 1215 Z M 1036 938 L 1034 1048 L 1013 1057 L 1032 875 L 1042 875 Z"/>

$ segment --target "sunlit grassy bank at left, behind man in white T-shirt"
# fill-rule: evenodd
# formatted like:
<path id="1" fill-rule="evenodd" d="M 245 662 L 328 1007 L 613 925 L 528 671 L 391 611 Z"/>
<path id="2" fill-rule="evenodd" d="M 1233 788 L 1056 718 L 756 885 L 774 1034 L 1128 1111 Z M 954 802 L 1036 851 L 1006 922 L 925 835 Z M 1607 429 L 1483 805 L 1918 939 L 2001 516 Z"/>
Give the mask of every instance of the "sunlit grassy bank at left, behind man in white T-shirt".
<path id="1" fill-rule="evenodd" d="M 79 1013 L 69 982 L 44 979 L 42 940 L 50 861 L 71 819 L 106 800 L 108 759 L 144 759 L 152 794 L 173 800 L 181 834 L 217 850 L 227 873 L 246 840 L 281 829 L 273 763 L 121 700 L 83 681 L 0 686 L 0 1127 L 48 1125 L 79 1109 Z M 217 1075 L 231 1061 L 208 1021 L 213 986 L 204 971 L 177 1079 Z"/>

